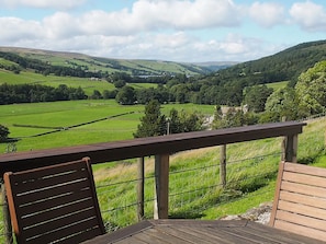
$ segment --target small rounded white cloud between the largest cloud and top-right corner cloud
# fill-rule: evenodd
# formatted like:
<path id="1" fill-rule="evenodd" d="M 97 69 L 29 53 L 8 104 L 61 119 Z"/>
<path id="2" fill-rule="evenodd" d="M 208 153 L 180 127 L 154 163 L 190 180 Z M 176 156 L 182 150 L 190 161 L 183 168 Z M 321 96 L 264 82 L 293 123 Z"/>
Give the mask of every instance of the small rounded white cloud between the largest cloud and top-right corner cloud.
<path id="1" fill-rule="evenodd" d="M 249 15 L 263 27 L 271 27 L 285 21 L 283 5 L 273 2 L 254 2 L 249 8 Z"/>

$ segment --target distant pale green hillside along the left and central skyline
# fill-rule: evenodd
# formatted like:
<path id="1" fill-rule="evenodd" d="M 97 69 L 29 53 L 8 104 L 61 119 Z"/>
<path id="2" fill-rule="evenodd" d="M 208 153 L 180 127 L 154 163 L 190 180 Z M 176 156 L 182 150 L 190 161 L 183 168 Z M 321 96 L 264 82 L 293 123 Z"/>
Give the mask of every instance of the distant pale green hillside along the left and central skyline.
<path id="1" fill-rule="evenodd" d="M 42 60 L 53 66 L 64 66 L 70 68 L 79 66 L 90 71 L 102 70 L 108 71 L 109 73 L 126 72 L 130 74 L 151 75 L 162 73 L 186 73 L 189 75 L 194 75 L 212 71 L 211 68 L 206 66 L 161 60 L 110 59 L 91 57 L 75 53 L 61 53 L 15 47 L 0 47 L 0 51 L 18 54 L 22 57 Z M 221 67 L 225 67 L 225 65 L 221 63 Z"/>

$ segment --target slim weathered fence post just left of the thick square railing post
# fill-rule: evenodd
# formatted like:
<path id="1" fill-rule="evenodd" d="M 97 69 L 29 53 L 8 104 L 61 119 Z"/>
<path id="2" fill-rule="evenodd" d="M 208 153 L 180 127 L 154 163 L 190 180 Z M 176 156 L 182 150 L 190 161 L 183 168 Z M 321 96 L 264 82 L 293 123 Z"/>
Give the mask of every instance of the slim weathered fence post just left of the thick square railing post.
<path id="1" fill-rule="evenodd" d="M 144 188 L 145 188 L 145 160 L 138 159 L 138 184 L 137 184 L 137 217 L 138 221 L 144 219 Z"/>

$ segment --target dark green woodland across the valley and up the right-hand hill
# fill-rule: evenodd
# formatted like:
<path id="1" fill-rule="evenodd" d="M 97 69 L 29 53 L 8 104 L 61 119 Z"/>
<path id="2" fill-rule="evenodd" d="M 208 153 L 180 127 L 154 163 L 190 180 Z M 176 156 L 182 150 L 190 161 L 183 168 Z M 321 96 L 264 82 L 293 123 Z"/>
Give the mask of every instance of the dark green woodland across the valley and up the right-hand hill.
<path id="1" fill-rule="evenodd" d="M 90 72 L 88 67 L 52 66 L 18 54 L 0 53 L 9 65 L 2 69 L 20 73 L 34 70 L 44 75 L 95 77 L 114 84 L 113 91 L 93 91 L 87 96 L 65 84 L 0 85 L 0 104 L 52 102 L 85 98 L 115 98 L 122 105 L 195 103 L 216 105 L 215 128 L 297 119 L 325 112 L 326 40 L 301 44 L 259 60 L 238 63 L 210 74 L 184 73 L 138 77 L 126 72 Z M 5 62 L 4 62 L 5 63 Z M 72 63 L 74 65 L 74 63 Z M 266 84 L 289 81 L 285 89 L 273 91 Z M 155 83 L 157 88 L 134 89 L 130 83 Z M 223 114 L 221 106 L 234 107 Z M 245 107 L 238 109 L 235 107 Z"/>

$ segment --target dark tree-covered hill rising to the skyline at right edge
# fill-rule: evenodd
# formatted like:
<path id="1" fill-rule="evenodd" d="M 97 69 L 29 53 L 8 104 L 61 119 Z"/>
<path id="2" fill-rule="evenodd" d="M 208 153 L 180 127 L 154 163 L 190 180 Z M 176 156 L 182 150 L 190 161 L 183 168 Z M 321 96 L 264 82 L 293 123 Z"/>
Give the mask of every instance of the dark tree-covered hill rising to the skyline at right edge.
<path id="1" fill-rule="evenodd" d="M 217 72 L 224 82 L 237 80 L 246 85 L 295 82 L 302 72 L 325 59 L 326 40 L 318 40 L 303 43 L 272 56 L 241 62 Z"/>

